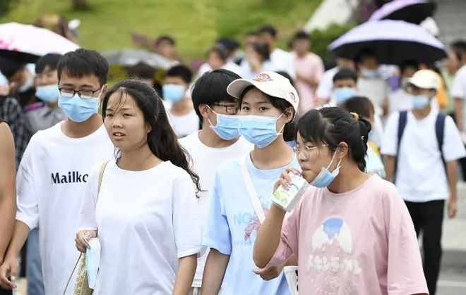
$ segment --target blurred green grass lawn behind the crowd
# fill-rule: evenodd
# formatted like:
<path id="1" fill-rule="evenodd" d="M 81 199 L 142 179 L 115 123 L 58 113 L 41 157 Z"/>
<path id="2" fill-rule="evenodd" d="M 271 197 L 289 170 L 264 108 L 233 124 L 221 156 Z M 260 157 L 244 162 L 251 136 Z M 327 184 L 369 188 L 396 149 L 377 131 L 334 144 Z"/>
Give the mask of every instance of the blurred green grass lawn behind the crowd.
<path id="1" fill-rule="evenodd" d="M 0 0 L 1 1 L 1 0 Z M 89 11 L 72 11 L 71 0 L 17 0 L 0 22 L 34 23 L 42 13 L 78 18 L 79 43 L 100 51 L 133 48 L 131 33 L 170 34 L 189 61 L 203 58 L 217 37 L 237 37 L 263 23 L 279 30 L 285 47 L 321 0 L 88 0 Z"/>

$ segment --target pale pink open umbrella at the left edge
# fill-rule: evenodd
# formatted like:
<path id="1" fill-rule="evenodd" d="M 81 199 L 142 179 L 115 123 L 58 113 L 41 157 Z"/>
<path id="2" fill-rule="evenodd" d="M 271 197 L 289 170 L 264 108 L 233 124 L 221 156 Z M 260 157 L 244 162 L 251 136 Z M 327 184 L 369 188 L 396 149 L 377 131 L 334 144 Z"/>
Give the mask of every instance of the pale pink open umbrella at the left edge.
<path id="1" fill-rule="evenodd" d="M 34 63 L 45 54 L 66 54 L 79 46 L 50 30 L 20 23 L 0 24 L 0 56 Z"/>

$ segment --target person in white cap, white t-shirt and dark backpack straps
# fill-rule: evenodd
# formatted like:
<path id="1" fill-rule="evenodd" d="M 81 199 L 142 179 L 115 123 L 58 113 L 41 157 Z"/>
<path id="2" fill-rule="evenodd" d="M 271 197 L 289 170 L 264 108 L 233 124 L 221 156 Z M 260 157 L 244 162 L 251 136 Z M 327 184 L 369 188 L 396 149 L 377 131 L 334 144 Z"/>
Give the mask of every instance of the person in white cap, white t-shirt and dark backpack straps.
<path id="1" fill-rule="evenodd" d="M 457 161 L 466 154 L 453 119 L 431 109 L 438 88 L 438 77 L 431 70 L 414 73 L 407 84 L 412 111 L 390 116 L 381 150 L 387 156 L 387 180 L 405 200 L 417 234 L 423 232 L 430 294 L 436 292 L 440 271 L 443 208 L 448 199 L 448 217 L 455 216 Z"/>

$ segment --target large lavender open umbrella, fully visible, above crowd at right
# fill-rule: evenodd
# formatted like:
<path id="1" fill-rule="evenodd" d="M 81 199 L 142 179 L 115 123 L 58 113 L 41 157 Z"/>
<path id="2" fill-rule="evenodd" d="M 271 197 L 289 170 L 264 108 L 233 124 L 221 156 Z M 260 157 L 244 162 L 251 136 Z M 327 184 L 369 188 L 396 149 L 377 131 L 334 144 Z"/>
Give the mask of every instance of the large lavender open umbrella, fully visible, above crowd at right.
<path id="1" fill-rule="evenodd" d="M 373 51 L 380 63 L 431 63 L 446 58 L 443 44 L 423 27 L 402 20 L 380 20 L 354 27 L 328 46 L 337 56 L 356 59 Z"/>

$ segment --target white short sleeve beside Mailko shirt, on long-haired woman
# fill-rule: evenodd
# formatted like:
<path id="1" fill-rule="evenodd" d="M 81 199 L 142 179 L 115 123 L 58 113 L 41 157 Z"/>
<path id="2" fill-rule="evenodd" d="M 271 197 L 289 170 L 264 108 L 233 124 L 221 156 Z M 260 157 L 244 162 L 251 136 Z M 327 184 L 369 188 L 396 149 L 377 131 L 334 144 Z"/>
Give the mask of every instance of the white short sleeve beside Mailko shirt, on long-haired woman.
<path id="1" fill-rule="evenodd" d="M 95 221 L 95 206 L 97 206 L 97 190 L 99 187 L 99 175 L 102 163 L 95 165 L 90 170 L 88 182 L 85 187 L 83 203 L 81 203 L 79 230 L 97 230 Z M 104 182 L 105 172 L 102 176 Z"/>

